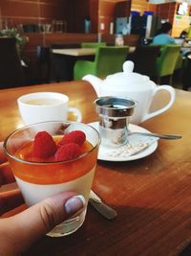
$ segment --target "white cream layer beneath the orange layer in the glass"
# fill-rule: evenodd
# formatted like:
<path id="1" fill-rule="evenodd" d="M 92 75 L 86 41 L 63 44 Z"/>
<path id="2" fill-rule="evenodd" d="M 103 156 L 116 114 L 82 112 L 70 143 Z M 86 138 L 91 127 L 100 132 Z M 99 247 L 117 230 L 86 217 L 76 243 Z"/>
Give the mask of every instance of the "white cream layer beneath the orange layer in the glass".
<path id="1" fill-rule="evenodd" d="M 15 178 L 22 195 L 29 206 L 40 200 L 65 191 L 72 191 L 77 194 L 83 195 L 86 201 L 88 201 L 95 175 L 95 170 L 96 166 L 86 175 L 80 176 L 72 181 L 53 185 L 33 184 L 24 181 L 16 176 Z"/>

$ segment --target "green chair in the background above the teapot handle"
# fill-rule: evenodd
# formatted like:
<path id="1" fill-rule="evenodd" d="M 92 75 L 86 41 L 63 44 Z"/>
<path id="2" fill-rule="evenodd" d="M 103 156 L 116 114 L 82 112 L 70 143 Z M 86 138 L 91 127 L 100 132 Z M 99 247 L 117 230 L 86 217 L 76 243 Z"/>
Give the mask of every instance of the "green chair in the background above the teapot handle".
<path id="1" fill-rule="evenodd" d="M 162 45 L 160 48 L 160 55 L 156 61 L 155 76 L 158 83 L 160 78 L 169 77 L 170 83 L 172 83 L 172 76 L 175 71 L 178 58 L 180 57 L 179 45 Z"/>

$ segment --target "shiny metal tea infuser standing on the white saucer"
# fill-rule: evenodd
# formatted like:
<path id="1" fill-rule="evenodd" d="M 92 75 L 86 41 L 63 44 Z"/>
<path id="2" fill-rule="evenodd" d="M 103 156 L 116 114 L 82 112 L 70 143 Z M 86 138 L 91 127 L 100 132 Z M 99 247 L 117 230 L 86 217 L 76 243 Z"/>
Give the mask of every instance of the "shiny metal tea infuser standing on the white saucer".
<path id="1" fill-rule="evenodd" d="M 110 148 L 125 144 L 129 119 L 137 103 L 128 98 L 106 96 L 97 98 L 95 104 L 99 115 L 101 144 Z"/>

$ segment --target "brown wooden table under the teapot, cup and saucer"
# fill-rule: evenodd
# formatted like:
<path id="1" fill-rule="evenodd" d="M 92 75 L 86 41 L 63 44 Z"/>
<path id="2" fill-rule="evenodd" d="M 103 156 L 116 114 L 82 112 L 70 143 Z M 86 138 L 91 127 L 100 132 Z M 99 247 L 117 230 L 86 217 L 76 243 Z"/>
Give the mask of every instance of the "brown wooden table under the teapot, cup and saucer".
<path id="1" fill-rule="evenodd" d="M 1 90 L 1 140 L 23 125 L 16 99 L 35 91 L 68 94 L 70 105 L 81 109 L 84 123 L 97 120 L 96 93 L 86 81 Z M 86 221 L 73 235 L 44 236 L 26 255 L 177 255 L 191 240 L 190 109 L 191 92 L 177 90 L 175 104 L 141 127 L 180 133 L 182 139 L 159 140 L 157 151 L 136 161 L 97 162 L 93 189 L 117 210 L 116 220 L 105 220 L 89 206 Z"/>

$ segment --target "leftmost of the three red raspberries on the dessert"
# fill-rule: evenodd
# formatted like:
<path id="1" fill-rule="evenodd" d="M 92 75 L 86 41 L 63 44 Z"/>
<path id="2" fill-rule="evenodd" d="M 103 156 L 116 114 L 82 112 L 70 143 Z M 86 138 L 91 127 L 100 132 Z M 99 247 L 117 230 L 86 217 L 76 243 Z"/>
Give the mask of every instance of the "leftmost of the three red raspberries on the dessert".
<path id="1" fill-rule="evenodd" d="M 49 157 L 56 151 L 53 137 L 47 131 L 39 131 L 33 141 L 33 156 Z"/>

